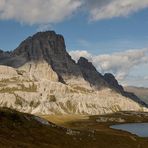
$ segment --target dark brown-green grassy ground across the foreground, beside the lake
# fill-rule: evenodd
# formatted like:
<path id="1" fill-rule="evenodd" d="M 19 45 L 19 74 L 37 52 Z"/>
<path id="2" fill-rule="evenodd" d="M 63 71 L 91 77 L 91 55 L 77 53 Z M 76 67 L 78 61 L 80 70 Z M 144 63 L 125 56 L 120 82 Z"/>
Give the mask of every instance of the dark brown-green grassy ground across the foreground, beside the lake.
<path id="1" fill-rule="evenodd" d="M 121 116 L 114 114 L 108 116 Z M 131 118 L 132 116 L 133 118 Z M 143 116 L 143 115 L 142 115 Z M 148 117 L 128 115 L 130 121 Z M 127 132 L 109 129 L 113 123 L 98 123 L 98 116 L 44 116 L 59 125 L 42 125 L 34 116 L 0 109 L 0 147 L 21 148 L 147 148 L 148 140 Z M 58 120 L 57 120 L 58 119 Z M 61 121 L 62 120 L 62 121 Z M 59 122 L 61 121 L 61 122 Z M 76 130 L 67 130 L 76 129 Z"/>

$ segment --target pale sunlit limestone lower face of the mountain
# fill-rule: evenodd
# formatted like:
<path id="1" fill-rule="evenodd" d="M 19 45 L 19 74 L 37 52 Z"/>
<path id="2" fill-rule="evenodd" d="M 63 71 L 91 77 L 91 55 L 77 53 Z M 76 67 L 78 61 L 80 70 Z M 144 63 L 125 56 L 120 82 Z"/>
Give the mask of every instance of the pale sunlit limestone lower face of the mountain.
<path id="1" fill-rule="evenodd" d="M 45 79 L 36 79 L 38 74 L 34 75 L 37 72 L 33 71 L 34 66 L 43 65 L 32 66 L 29 72 L 25 69 L 27 65 L 23 69 L 0 66 L 1 70 L 6 68 L 6 73 L 3 71 L 5 78 L 0 79 L 0 107 L 32 114 L 97 115 L 127 110 L 148 111 L 139 103 L 109 88 L 97 91 L 65 85 L 56 81 L 54 75 L 49 79 L 48 75 L 45 75 Z M 13 77 L 9 77 L 9 73 Z M 53 71 L 49 73 L 54 74 Z"/>

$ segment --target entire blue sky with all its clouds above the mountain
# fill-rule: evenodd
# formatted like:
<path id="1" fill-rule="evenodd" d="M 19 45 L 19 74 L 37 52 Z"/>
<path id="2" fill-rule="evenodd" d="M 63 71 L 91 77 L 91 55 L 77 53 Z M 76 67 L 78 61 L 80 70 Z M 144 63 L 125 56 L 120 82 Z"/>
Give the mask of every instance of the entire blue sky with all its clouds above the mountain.
<path id="1" fill-rule="evenodd" d="M 106 64 L 103 72 L 113 72 L 122 84 L 148 87 L 148 0 L 57 2 L 0 1 L 0 49 L 13 50 L 37 31 L 55 30 L 73 58 L 86 56 L 98 70 Z M 129 56 L 129 50 L 135 52 Z M 122 62 L 114 60 L 116 54 Z"/>

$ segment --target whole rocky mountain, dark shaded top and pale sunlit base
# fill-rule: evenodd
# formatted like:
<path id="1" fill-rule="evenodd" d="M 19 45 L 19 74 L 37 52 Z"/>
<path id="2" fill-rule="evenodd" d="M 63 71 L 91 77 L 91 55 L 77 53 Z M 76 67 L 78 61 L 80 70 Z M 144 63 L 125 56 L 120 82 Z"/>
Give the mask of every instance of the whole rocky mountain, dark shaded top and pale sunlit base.
<path id="1" fill-rule="evenodd" d="M 0 51 L 0 65 L 0 106 L 39 114 L 147 110 L 112 74 L 103 76 L 83 57 L 76 63 L 54 31 L 28 37 L 12 52 Z"/>

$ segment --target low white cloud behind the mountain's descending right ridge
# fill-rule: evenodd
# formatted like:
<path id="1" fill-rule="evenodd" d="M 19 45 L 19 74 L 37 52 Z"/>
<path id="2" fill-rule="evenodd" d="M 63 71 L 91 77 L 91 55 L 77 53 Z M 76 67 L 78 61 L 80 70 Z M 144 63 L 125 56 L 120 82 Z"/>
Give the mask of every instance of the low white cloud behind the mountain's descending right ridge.
<path id="1" fill-rule="evenodd" d="M 127 50 L 113 54 L 92 55 L 87 51 L 71 51 L 74 60 L 83 56 L 89 59 L 98 71 L 102 73 L 111 72 L 120 81 L 124 80 L 133 68 L 148 63 L 148 49 Z"/>

